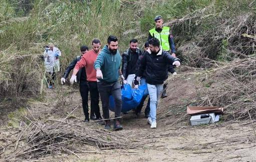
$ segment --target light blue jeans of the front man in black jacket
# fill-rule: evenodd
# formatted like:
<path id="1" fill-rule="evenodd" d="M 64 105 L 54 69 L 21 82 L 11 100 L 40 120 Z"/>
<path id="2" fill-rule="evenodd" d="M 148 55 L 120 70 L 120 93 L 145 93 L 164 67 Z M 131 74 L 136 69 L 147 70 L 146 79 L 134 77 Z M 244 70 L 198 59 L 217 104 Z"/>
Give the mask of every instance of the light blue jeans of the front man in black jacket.
<path id="1" fill-rule="evenodd" d="M 151 117 L 152 121 L 155 121 L 158 99 L 163 91 L 163 84 L 151 85 L 148 83 L 147 86 L 148 86 L 148 93 L 149 93 L 149 97 L 150 97 L 149 116 Z"/>

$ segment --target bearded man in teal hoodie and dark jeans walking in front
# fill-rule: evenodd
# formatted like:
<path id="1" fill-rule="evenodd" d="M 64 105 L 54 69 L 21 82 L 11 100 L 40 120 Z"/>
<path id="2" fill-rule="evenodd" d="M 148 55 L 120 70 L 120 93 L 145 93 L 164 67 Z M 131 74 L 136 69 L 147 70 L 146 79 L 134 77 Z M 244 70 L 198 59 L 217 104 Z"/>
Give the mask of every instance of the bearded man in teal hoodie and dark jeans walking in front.
<path id="1" fill-rule="evenodd" d="M 123 129 L 120 124 L 120 114 L 122 109 L 121 86 L 118 81 L 120 76 L 124 76 L 120 70 L 121 55 L 118 48 L 118 39 L 116 36 L 108 37 L 108 44 L 103 47 L 99 53 L 94 68 L 97 71 L 98 88 L 101 96 L 102 110 L 105 120 L 105 129 L 110 129 L 109 120 L 109 96 L 112 95 L 115 100 L 115 119 L 113 130 Z"/>

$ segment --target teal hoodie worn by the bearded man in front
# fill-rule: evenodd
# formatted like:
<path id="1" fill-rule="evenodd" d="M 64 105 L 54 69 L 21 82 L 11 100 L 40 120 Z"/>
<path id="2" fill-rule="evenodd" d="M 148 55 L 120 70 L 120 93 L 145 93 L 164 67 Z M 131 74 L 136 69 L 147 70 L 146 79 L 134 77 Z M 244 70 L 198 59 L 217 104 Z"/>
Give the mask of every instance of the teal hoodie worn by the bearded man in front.
<path id="1" fill-rule="evenodd" d="M 119 50 L 116 53 L 111 53 L 108 45 L 105 45 L 100 51 L 97 59 L 94 62 L 94 68 L 100 68 L 103 74 L 103 79 L 100 81 L 115 82 L 118 80 L 118 70 L 121 64 L 121 55 Z"/>

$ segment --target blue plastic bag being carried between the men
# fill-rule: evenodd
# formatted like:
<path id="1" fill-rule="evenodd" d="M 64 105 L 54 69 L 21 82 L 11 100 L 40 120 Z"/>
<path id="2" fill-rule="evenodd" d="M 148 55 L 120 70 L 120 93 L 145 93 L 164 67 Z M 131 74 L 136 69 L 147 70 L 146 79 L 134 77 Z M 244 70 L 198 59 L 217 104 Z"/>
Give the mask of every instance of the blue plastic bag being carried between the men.
<path id="1" fill-rule="evenodd" d="M 122 92 L 122 112 L 130 111 L 136 108 L 144 95 L 144 91 L 147 88 L 147 84 L 140 85 L 138 89 L 131 88 L 130 84 L 124 84 L 121 89 Z M 131 97 L 130 97 L 131 96 Z M 115 101 L 113 96 L 109 97 L 109 109 L 115 110 Z"/>

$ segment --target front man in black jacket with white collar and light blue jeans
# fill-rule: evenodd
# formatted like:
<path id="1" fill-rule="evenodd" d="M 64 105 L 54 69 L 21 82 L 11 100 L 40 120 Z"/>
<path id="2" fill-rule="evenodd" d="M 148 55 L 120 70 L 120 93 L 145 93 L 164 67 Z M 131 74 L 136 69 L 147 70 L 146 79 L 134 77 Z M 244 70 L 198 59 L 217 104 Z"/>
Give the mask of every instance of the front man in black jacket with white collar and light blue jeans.
<path id="1" fill-rule="evenodd" d="M 139 81 L 146 72 L 146 82 L 150 97 L 150 116 L 148 123 L 150 128 L 156 128 L 156 108 L 159 96 L 163 90 L 163 82 L 168 77 L 168 65 L 180 65 L 180 60 L 173 57 L 167 51 L 164 51 L 160 46 L 160 41 L 157 38 L 149 40 L 149 49 L 144 53 L 138 71 L 136 72 L 137 80 Z"/>

